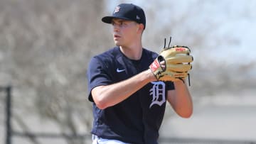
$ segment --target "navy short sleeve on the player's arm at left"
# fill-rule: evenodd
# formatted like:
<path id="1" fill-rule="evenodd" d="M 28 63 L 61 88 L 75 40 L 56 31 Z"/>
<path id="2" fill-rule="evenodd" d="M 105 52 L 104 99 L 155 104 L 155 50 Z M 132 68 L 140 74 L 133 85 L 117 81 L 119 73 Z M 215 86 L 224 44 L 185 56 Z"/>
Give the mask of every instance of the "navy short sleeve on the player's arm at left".
<path id="1" fill-rule="evenodd" d="M 107 72 L 105 63 L 97 57 L 92 57 L 87 69 L 88 99 L 93 102 L 92 89 L 97 86 L 111 84 L 110 74 Z"/>

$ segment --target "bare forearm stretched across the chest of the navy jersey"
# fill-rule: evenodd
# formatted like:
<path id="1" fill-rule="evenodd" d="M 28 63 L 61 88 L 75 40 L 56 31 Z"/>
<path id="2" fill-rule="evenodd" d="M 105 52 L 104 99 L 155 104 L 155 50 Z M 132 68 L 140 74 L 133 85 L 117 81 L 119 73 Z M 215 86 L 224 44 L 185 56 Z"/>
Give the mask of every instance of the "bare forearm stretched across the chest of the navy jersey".
<path id="1" fill-rule="evenodd" d="M 95 87 L 92 89 L 92 98 L 100 109 L 105 109 L 124 101 L 124 99 L 154 80 L 156 80 L 154 74 L 150 70 L 146 70 L 122 82 Z"/>

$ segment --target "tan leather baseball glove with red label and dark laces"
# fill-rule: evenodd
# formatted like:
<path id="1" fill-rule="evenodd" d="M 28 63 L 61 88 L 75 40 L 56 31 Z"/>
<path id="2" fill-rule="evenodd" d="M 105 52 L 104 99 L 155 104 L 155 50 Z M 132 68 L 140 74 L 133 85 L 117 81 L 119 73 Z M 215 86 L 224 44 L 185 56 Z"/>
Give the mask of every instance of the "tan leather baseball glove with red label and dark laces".
<path id="1" fill-rule="evenodd" d="M 184 82 L 192 68 L 193 57 L 190 53 L 191 50 L 186 46 L 174 45 L 164 48 L 149 68 L 159 81 L 175 82 L 181 79 Z"/>

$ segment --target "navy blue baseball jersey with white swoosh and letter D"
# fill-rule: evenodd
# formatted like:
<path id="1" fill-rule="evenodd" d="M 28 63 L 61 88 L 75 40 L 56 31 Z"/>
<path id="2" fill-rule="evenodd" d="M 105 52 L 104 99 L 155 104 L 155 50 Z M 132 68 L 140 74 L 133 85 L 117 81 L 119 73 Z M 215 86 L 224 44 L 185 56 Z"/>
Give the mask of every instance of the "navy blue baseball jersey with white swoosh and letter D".
<path id="1" fill-rule="evenodd" d="M 140 60 L 129 60 L 119 47 L 92 57 L 87 71 L 88 99 L 93 102 L 93 88 L 114 84 L 147 70 L 156 57 L 155 52 L 143 49 Z M 98 109 L 93 102 L 92 133 L 126 143 L 156 144 L 164 118 L 167 90 L 170 89 L 174 89 L 172 82 L 150 82 L 106 109 Z"/>

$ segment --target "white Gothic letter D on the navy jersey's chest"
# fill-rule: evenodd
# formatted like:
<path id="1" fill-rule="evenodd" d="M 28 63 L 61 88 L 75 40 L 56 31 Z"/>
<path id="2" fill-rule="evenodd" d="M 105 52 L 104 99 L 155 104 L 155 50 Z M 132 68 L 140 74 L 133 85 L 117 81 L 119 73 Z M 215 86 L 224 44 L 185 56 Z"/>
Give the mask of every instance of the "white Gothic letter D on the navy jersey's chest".
<path id="1" fill-rule="evenodd" d="M 164 82 L 151 82 L 153 84 L 152 88 L 150 89 L 150 95 L 152 96 L 152 102 L 149 106 L 149 109 L 154 104 L 161 106 L 166 102 L 165 98 L 165 83 Z"/>

